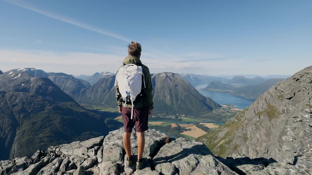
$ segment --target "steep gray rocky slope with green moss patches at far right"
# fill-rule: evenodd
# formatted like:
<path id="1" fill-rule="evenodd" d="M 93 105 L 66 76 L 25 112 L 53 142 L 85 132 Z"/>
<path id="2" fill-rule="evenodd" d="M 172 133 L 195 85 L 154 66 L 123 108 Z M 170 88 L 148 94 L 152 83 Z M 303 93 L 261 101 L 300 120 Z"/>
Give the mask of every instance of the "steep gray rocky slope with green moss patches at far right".
<path id="1" fill-rule="evenodd" d="M 260 95 L 217 130 L 197 140 L 214 154 L 273 158 L 293 164 L 312 153 L 312 66 Z"/>

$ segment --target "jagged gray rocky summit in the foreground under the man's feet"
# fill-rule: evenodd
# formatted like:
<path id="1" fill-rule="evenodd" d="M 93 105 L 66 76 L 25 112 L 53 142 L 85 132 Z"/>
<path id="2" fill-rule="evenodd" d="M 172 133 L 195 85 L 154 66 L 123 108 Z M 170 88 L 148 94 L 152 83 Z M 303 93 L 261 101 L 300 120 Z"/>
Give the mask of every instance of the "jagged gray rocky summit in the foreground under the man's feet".
<path id="1" fill-rule="evenodd" d="M 148 165 L 142 170 L 124 167 L 123 128 L 106 137 L 83 142 L 51 146 L 32 156 L 0 161 L 0 174 L 10 175 L 235 175 L 202 143 L 179 138 L 165 144 L 167 135 L 149 129 L 145 133 L 144 158 Z M 136 154 L 136 133 L 131 137 Z M 136 158 L 136 156 L 134 156 Z"/>

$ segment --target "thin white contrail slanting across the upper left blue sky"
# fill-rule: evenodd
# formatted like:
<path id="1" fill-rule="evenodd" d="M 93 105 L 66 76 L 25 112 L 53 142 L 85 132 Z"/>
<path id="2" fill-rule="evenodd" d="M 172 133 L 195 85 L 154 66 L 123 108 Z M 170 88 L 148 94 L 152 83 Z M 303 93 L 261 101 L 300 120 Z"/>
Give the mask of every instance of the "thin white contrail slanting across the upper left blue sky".
<path id="1" fill-rule="evenodd" d="M 87 30 L 90 30 L 90 31 L 95 31 L 95 32 L 103 34 L 103 35 L 107 35 L 107 36 L 111 36 L 111 37 L 117 38 L 119 40 L 130 42 L 130 40 L 128 38 L 125 38 L 125 37 L 123 37 L 121 35 L 110 33 L 110 32 L 104 31 L 102 29 L 90 26 L 88 24 L 84 24 L 84 23 L 81 23 L 81 22 L 78 22 L 78 21 L 74 21 L 74 20 L 69 19 L 67 17 L 63 17 L 63 16 L 60 16 L 60 15 L 53 14 L 51 12 L 43 11 L 43 10 L 35 8 L 35 7 L 30 7 L 29 5 L 27 6 L 25 4 L 12 2 L 12 1 L 9 1 L 9 0 L 3 0 L 3 1 L 9 2 L 11 4 L 17 5 L 17 6 L 22 7 L 22 8 L 26 8 L 26 9 L 31 10 L 33 12 L 40 13 L 41 15 L 45 15 L 45 16 L 50 17 L 50 18 L 57 19 L 57 20 L 60 20 L 60 21 L 72 24 L 74 26 L 78 26 L 78 27 L 81 27 L 81 28 L 84 28 L 84 29 L 87 29 Z"/>

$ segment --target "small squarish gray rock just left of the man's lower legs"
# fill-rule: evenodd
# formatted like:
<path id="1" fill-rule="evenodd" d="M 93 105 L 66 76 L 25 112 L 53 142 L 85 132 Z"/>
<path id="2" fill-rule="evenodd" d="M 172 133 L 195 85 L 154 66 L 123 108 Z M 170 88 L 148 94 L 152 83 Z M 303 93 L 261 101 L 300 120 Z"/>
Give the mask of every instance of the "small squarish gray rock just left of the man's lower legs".
<path id="1" fill-rule="evenodd" d="M 107 162 L 116 162 L 116 163 L 123 163 L 124 160 L 124 151 L 118 146 L 111 146 L 108 148 L 103 149 L 103 157 L 102 161 Z"/>

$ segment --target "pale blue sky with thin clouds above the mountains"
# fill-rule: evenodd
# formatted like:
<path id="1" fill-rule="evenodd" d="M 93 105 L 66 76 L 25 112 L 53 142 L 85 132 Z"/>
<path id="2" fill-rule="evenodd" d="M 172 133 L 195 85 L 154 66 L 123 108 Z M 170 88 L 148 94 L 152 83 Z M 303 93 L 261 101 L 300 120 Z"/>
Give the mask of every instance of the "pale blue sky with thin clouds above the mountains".
<path id="1" fill-rule="evenodd" d="M 294 74 L 312 1 L 0 0 L 0 69 L 115 72 L 131 40 L 151 73 Z"/>

